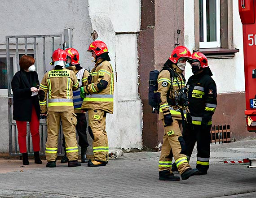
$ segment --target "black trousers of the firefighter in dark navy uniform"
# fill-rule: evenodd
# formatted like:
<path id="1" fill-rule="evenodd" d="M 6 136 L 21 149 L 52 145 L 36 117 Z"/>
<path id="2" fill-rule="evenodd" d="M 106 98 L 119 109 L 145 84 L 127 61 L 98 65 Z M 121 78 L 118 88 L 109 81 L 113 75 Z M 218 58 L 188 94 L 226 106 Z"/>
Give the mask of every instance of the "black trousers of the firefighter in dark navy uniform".
<path id="1" fill-rule="evenodd" d="M 192 129 L 190 125 L 186 124 L 182 133 L 186 144 L 186 155 L 189 160 L 192 155 L 195 142 L 197 142 L 196 168 L 201 172 L 207 172 L 209 169 L 212 125 L 208 125 L 207 128 L 203 128 L 201 125 L 193 125 L 193 127 L 194 129 Z"/>

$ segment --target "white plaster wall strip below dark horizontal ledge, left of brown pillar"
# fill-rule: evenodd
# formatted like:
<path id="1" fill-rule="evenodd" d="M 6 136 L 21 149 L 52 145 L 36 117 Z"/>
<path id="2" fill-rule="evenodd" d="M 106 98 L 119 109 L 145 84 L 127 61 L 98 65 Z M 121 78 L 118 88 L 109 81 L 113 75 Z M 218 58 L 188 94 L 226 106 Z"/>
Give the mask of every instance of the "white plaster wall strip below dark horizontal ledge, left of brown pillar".
<path id="1" fill-rule="evenodd" d="M 108 115 L 110 149 L 142 149 L 142 106 L 138 97 L 137 35 L 116 36 L 114 114 Z"/>

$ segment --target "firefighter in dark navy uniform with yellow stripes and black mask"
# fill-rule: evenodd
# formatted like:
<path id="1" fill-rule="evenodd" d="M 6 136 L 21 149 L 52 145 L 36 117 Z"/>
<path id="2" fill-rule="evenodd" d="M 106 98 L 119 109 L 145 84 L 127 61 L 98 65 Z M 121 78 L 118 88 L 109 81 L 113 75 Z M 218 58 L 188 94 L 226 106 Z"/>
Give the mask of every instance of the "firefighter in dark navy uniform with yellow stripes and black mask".
<path id="1" fill-rule="evenodd" d="M 204 175 L 209 168 L 212 116 L 217 106 L 217 90 L 206 56 L 194 52 L 191 57 L 189 62 L 194 75 L 188 80 L 188 88 L 193 127 L 185 127 L 183 137 L 188 159 L 197 142 L 196 168 L 199 175 Z"/>

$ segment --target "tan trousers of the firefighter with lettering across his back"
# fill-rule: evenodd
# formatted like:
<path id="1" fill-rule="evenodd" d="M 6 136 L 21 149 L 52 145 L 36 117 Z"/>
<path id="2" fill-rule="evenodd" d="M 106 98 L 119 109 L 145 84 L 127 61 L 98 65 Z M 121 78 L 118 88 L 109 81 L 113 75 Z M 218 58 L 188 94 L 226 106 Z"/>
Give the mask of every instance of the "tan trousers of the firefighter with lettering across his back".
<path id="1" fill-rule="evenodd" d="M 57 158 L 58 135 L 62 121 L 62 131 L 66 141 L 66 155 L 72 160 L 78 159 L 78 147 L 75 133 L 76 117 L 74 110 L 67 112 L 48 112 L 47 115 L 47 141 L 45 156 L 48 162 Z"/>

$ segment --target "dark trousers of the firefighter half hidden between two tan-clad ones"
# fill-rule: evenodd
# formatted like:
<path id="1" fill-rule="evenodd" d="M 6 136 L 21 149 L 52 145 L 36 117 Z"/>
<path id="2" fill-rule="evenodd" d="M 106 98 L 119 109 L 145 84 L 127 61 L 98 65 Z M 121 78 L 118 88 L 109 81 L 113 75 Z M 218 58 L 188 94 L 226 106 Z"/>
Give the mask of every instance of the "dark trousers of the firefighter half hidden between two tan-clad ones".
<path id="1" fill-rule="evenodd" d="M 75 126 L 75 129 L 79 137 L 78 145 L 81 148 L 87 148 L 89 146 L 89 143 L 88 143 L 87 133 L 86 133 L 87 122 L 86 122 L 85 113 L 76 113 L 76 120 L 77 120 L 77 124 Z M 63 135 L 62 146 L 65 148 L 65 145 L 66 145 L 65 137 Z"/>

